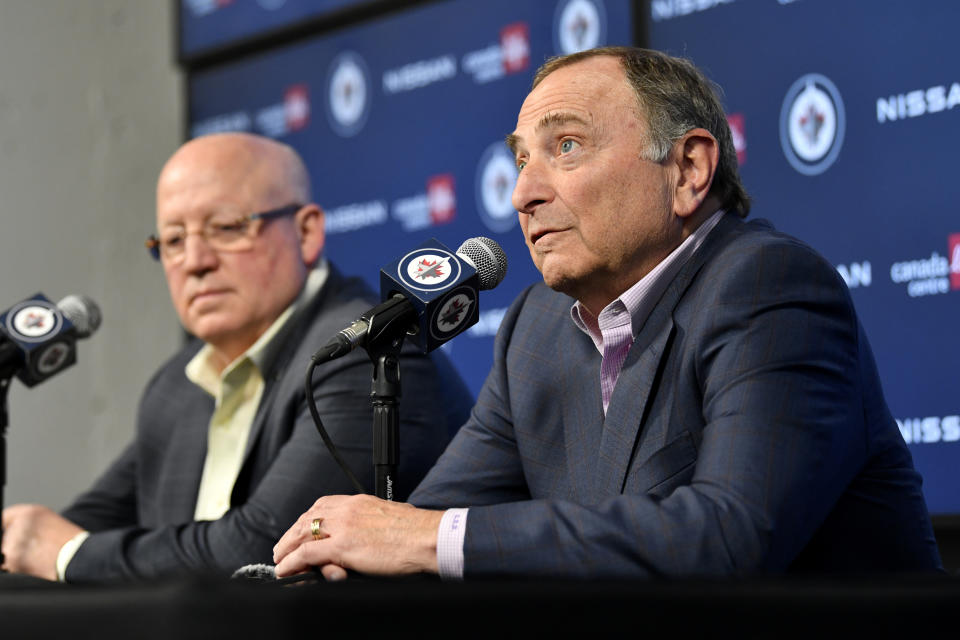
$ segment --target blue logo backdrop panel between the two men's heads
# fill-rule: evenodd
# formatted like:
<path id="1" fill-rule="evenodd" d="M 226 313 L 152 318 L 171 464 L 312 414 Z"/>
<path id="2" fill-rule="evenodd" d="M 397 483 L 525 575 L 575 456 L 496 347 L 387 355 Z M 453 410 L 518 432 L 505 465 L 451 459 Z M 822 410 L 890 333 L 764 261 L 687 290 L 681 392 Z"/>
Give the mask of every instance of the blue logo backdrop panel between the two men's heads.
<path id="1" fill-rule="evenodd" d="M 453 250 L 496 240 L 506 279 L 481 294 L 478 323 L 443 347 L 476 393 L 506 308 L 541 279 L 511 204 L 504 136 L 546 58 L 632 42 L 631 5 L 420 5 L 192 74 L 190 133 L 251 131 L 296 148 L 326 210 L 327 256 L 377 290 L 380 267 L 428 238 Z"/>

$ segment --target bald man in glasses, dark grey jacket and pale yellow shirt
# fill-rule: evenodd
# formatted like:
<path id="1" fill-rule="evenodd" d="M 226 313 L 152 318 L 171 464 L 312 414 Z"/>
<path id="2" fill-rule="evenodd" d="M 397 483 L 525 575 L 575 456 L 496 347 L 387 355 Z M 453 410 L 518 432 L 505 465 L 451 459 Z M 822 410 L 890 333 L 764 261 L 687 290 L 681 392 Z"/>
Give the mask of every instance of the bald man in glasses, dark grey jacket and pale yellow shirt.
<path id="1" fill-rule="evenodd" d="M 197 339 L 150 381 L 134 441 L 91 490 L 62 515 L 4 510 L 11 571 L 68 582 L 229 573 L 269 562 L 318 492 L 354 491 L 314 428 L 304 372 L 377 301 L 323 258 L 323 212 L 300 158 L 248 134 L 188 142 L 160 174 L 157 225 L 148 247 Z M 408 349 L 401 370 L 406 496 L 472 399 L 442 356 Z M 325 427 L 368 488 L 371 374 L 358 350 L 313 378 Z"/>

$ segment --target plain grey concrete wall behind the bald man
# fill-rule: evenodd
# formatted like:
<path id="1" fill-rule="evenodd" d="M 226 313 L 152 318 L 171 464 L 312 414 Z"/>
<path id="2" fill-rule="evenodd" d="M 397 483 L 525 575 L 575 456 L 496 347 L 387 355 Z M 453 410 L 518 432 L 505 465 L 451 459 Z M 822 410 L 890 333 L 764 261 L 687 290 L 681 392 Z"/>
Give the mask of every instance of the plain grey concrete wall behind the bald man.
<path id="1" fill-rule="evenodd" d="M 181 333 L 144 238 L 177 147 L 172 0 L 0 2 L 0 307 L 93 298 L 78 364 L 14 381 L 4 503 L 60 508 L 130 440 L 137 399 Z"/>

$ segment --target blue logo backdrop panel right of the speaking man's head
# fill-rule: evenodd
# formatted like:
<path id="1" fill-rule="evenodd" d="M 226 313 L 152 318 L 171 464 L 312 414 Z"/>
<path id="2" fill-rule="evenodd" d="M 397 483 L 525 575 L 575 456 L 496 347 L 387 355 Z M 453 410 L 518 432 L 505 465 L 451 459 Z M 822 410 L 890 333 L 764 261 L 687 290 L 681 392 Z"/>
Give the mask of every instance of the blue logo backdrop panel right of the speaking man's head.
<path id="1" fill-rule="evenodd" d="M 960 4 L 650 0 L 725 92 L 752 216 L 831 260 L 935 514 L 960 513 Z"/>

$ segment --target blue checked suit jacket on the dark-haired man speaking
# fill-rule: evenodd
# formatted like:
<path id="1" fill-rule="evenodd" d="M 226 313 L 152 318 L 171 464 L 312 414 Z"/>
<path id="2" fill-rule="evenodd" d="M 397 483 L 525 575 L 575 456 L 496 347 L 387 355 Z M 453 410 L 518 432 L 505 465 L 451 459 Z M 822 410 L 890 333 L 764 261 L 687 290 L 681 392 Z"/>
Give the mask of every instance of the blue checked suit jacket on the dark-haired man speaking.
<path id="1" fill-rule="evenodd" d="M 940 566 L 849 293 L 810 248 L 725 216 L 606 417 L 572 302 L 540 284 L 513 304 L 470 420 L 410 498 L 471 507 L 465 575 Z"/>

